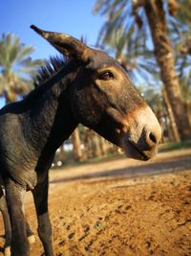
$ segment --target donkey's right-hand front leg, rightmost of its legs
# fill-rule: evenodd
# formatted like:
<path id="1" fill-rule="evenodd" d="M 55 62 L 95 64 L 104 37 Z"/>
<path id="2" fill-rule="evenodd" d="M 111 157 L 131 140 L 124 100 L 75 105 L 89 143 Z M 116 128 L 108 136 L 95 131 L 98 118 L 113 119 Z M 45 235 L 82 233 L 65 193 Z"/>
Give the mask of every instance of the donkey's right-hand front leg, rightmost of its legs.
<path id="1" fill-rule="evenodd" d="M 32 191 L 38 218 L 38 235 L 44 246 L 45 255 L 53 256 L 52 226 L 48 213 L 48 176 Z"/>

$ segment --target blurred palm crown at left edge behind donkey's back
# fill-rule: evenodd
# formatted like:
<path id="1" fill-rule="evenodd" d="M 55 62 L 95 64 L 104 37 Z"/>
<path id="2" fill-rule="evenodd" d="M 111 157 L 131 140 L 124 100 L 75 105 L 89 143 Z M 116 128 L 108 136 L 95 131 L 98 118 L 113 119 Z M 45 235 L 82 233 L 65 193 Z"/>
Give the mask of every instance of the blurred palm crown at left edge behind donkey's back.
<path id="1" fill-rule="evenodd" d="M 0 96 L 7 103 L 32 89 L 32 76 L 42 64 L 30 58 L 32 52 L 33 47 L 24 45 L 15 35 L 0 38 Z"/>

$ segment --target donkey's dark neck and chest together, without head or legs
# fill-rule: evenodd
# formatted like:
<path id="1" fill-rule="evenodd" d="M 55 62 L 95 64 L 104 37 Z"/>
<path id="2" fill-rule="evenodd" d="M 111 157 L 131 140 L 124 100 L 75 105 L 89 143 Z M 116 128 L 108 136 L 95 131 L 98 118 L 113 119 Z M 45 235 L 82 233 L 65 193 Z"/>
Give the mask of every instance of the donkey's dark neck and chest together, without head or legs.
<path id="1" fill-rule="evenodd" d="M 69 66 L 60 71 L 63 77 L 72 73 Z M 11 176 L 26 190 L 44 179 L 43 171 L 50 168 L 54 152 L 78 124 L 70 114 L 66 83 L 53 77 L 23 101 L 0 110 L 1 174 Z"/>

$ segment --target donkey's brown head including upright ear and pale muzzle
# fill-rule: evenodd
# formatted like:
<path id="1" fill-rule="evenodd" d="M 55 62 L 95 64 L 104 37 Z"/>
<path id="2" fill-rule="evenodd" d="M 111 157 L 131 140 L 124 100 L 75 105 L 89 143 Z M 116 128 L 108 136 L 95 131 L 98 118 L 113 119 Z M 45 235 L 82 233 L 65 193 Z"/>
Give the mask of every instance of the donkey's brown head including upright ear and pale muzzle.
<path id="1" fill-rule="evenodd" d="M 132 158 L 154 156 L 161 138 L 159 122 L 118 62 L 70 35 L 32 29 L 79 63 L 70 89 L 75 119 Z"/>

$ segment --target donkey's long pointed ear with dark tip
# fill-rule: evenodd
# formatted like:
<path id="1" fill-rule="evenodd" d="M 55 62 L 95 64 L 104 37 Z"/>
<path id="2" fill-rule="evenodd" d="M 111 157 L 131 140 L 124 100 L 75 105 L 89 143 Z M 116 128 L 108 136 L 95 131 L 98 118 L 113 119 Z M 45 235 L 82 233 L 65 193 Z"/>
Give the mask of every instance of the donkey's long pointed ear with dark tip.
<path id="1" fill-rule="evenodd" d="M 77 58 L 83 62 L 87 62 L 89 60 L 90 48 L 81 41 L 75 39 L 73 36 L 43 31 L 34 25 L 32 25 L 31 28 L 37 34 L 42 35 L 47 39 L 61 54 L 68 56 L 69 58 Z"/>

